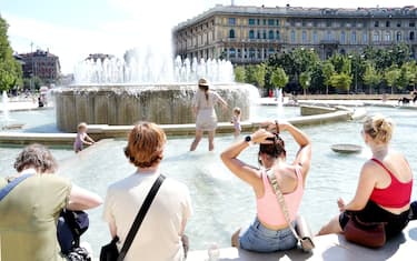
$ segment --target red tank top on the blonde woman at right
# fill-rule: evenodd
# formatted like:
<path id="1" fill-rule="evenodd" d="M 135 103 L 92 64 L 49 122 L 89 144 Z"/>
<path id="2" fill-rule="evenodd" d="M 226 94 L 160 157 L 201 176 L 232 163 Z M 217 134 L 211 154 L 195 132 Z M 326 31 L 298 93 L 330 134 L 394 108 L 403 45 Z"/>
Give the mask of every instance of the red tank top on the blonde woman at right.
<path id="1" fill-rule="evenodd" d="M 408 204 L 411 198 L 413 179 L 407 183 L 403 183 L 383 162 L 377 159 L 371 160 L 388 172 L 391 178 L 391 183 L 385 189 L 374 188 L 370 200 L 386 208 L 403 208 Z"/>

